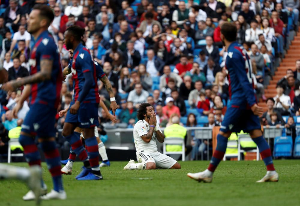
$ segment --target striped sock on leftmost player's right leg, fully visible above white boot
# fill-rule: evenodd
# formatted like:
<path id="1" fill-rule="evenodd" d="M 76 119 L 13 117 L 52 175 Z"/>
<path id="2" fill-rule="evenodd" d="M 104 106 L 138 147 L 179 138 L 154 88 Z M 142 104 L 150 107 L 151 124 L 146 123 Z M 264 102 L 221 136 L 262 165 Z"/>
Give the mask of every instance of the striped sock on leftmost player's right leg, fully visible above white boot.
<path id="1" fill-rule="evenodd" d="M 49 172 L 52 176 L 53 190 L 59 192 L 64 190 L 61 178 L 61 165 L 60 165 L 60 155 L 56 147 L 55 141 L 44 141 L 41 142 L 41 148 L 44 151 L 46 163 Z"/>

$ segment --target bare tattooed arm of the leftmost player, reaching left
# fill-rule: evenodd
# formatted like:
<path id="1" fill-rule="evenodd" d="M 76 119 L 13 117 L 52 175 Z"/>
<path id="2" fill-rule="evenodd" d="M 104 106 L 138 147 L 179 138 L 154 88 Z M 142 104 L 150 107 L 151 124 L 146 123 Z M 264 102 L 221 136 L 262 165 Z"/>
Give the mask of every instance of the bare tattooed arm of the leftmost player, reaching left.
<path id="1" fill-rule="evenodd" d="M 40 63 L 41 71 L 34 75 L 23 77 L 20 80 L 12 80 L 2 86 L 5 91 L 14 91 L 25 84 L 34 84 L 51 79 L 53 60 L 42 59 Z"/>

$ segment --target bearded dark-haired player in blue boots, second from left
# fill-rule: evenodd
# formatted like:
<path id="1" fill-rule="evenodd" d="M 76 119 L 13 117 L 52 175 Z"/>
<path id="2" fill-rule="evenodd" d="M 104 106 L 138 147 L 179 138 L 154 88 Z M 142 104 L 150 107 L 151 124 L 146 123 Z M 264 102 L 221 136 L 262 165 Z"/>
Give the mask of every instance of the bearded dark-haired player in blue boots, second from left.
<path id="1" fill-rule="evenodd" d="M 74 52 L 71 60 L 74 98 L 67 112 L 62 135 L 71 144 L 73 151 L 83 161 L 82 172 L 77 180 L 101 180 L 99 168 L 98 143 L 94 134 L 98 122 L 99 94 L 96 68 L 91 54 L 82 43 L 85 30 L 78 26 L 70 26 L 64 33 L 64 43 L 68 50 Z M 74 132 L 76 127 L 83 128 L 87 152 L 82 146 L 80 133 Z"/>

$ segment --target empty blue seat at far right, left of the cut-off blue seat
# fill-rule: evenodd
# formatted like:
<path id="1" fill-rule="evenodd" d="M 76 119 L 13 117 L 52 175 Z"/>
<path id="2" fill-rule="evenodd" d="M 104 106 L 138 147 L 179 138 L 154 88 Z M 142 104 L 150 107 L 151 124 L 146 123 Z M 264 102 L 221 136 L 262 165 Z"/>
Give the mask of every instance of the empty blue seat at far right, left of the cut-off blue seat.
<path id="1" fill-rule="evenodd" d="M 292 137 L 276 137 L 274 140 L 274 157 L 291 157 L 292 156 Z"/>

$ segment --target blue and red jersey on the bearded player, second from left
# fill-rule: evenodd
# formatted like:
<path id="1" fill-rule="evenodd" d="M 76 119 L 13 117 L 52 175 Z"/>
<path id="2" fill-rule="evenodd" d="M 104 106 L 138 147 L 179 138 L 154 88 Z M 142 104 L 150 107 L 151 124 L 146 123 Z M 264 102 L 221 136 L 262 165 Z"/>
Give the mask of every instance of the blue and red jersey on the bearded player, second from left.
<path id="1" fill-rule="evenodd" d="M 93 84 L 90 88 L 88 95 L 82 100 L 82 102 L 99 103 L 99 93 L 96 75 L 96 65 L 92 60 L 91 54 L 88 49 L 86 49 L 81 43 L 76 47 L 73 58 L 71 60 L 72 67 L 72 79 L 74 88 L 74 98 L 76 101 L 82 92 L 84 85 L 84 75 L 85 72 L 92 72 L 93 74 Z"/>

